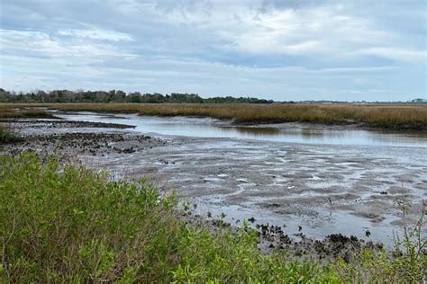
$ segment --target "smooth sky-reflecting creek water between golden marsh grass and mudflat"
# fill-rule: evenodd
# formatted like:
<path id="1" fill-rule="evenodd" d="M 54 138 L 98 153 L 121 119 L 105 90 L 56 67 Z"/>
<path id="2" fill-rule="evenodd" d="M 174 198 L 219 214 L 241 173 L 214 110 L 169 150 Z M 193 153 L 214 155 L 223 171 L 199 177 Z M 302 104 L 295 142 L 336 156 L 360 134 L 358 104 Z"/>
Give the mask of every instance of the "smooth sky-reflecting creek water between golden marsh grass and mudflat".
<path id="1" fill-rule="evenodd" d="M 56 114 L 67 120 L 123 123 L 135 130 L 160 135 L 198 138 L 244 138 L 264 141 L 369 146 L 427 147 L 427 131 L 371 131 L 362 129 L 320 129 L 235 127 L 220 120 L 187 117 L 149 117 L 136 114 Z"/>

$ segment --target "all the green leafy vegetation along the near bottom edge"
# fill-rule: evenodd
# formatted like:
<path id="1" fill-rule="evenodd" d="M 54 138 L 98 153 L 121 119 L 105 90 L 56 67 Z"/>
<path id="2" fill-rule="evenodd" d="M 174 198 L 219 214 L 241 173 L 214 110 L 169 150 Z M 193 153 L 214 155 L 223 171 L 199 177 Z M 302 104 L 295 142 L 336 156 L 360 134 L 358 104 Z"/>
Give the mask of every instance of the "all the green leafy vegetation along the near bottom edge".
<path id="1" fill-rule="evenodd" d="M 425 251 L 323 264 L 262 255 L 247 227 L 186 226 L 173 195 L 59 160 L 0 157 L 0 282 L 413 282 L 425 273 Z"/>

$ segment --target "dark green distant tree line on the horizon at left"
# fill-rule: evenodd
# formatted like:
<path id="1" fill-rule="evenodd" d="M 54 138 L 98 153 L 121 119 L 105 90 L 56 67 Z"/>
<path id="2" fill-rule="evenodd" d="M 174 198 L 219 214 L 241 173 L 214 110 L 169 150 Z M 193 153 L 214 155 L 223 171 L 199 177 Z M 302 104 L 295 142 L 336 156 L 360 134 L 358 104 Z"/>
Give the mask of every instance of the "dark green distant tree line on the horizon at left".
<path id="1" fill-rule="evenodd" d="M 9 92 L 0 88 L 0 102 L 134 102 L 134 103 L 272 103 L 250 97 L 235 98 L 232 96 L 204 99 L 197 93 L 124 93 L 120 90 L 111 91 L 68 91 L 54 90 L 50 92 L 35 91 L 28 93 Z"/>

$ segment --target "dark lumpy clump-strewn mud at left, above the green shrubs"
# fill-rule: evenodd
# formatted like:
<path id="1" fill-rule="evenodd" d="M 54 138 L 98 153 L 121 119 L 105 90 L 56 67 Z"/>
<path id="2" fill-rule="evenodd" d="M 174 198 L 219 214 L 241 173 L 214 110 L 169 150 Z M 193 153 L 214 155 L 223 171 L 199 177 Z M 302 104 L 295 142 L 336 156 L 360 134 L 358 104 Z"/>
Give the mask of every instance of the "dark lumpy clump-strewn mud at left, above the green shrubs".
<path id="1" fill-rule="evenodd" d="M 3 153 L 16 155 L 23 150 L 41 156 L 56 153 L 64 159 L 87 160 L 88 156 L 130 155 L 166 142 L 149 135 L 123 131 L 132 126 L 116 123 L 65 120 L 1 120 L 23 140 L 0 145 Z"/>

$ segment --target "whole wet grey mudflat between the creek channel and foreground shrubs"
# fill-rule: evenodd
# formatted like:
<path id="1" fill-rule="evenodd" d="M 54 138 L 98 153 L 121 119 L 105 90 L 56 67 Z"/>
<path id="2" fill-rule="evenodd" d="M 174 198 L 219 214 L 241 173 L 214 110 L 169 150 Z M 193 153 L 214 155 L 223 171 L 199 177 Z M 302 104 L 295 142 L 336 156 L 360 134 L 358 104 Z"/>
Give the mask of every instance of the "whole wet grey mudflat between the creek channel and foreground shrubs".
<path id="1" fill-rule="evenodd" d="M 1 146 L 3 153 L 57 152 L 116 175 L 145 176 L 197 204 L 194 216 L 225 213 L 233 226 L 252 220 L 266 249 L 287 244 L 280 234 L 304 244 L 343 234 L 390 246 L 403 223 L 395 201 L 412 204 L 411 223 L 427 198 L 425 147 L 161 136 L 125 124 L 69 120 L 1 124 L 25 138 Z M 267 226 L 276 237 L 263 235 Z"/>

